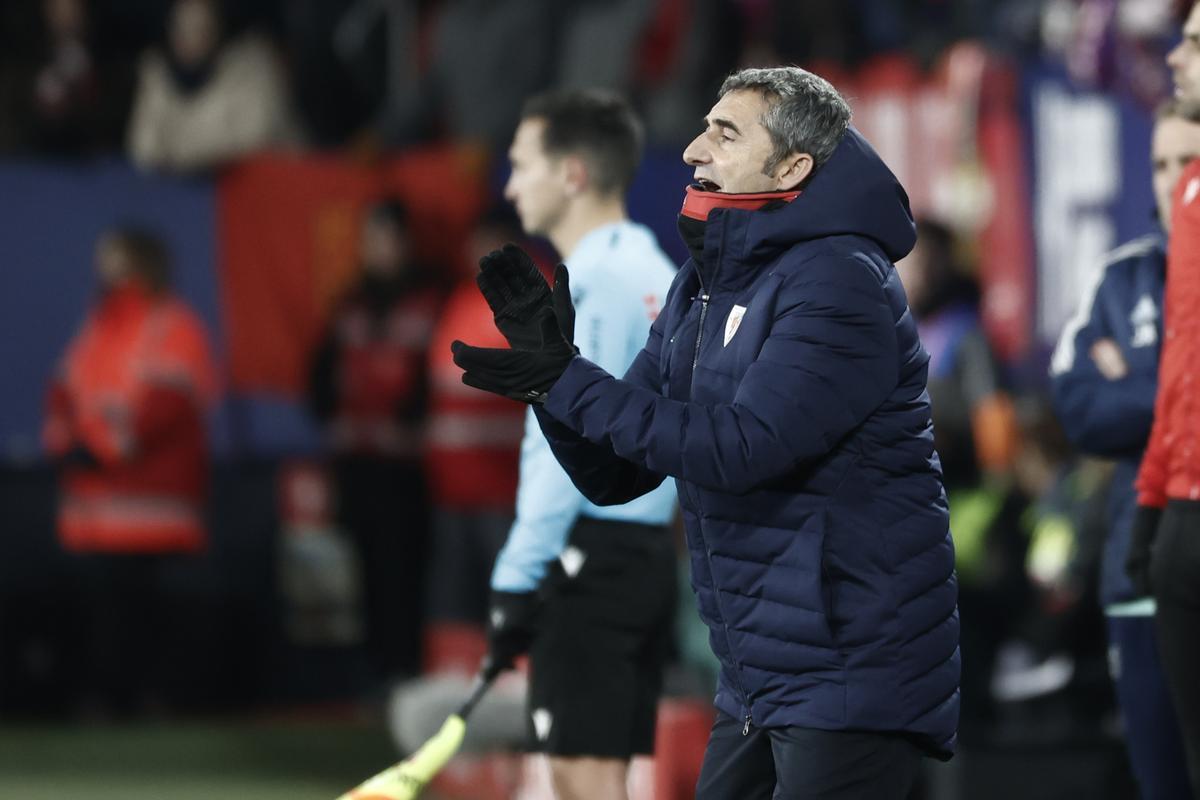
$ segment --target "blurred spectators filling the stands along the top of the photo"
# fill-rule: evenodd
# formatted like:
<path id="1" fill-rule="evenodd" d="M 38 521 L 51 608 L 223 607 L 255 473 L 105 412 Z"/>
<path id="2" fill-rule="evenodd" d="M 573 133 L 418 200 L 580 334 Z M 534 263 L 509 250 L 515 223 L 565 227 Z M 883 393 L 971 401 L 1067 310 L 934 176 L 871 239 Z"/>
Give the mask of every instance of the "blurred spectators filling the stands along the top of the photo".
<path id="1" fill-rule="evenodd" d="M 126 152 L 196 172 L 262 149 L 504 146 L 524 97 L 626 94 L 683 144 L 739 66 L 836 72 L 953 42 L 1045 53 L 1099 86 L 1163 91 L 1177 0 L 40 0 L 0 11 L 0 154 Z M 604 47 L 596 47 L 604 42 Z M 485 80 L 482 77 L 503 77 Z"/>

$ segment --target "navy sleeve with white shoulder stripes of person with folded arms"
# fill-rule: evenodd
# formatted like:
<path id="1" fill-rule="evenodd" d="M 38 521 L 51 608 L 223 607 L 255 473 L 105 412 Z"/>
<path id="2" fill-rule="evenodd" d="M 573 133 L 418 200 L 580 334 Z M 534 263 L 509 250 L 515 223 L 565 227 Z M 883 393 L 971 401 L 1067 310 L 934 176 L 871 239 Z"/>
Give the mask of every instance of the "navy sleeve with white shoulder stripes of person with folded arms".
<path id="1" fill-rule="evenodd" d="M 1157 384 L 1154 373 L 1133 371 L 1109 380 L 1091 357 L 1097 341 L 1116 341 L 1104 309 L 1110 307 L 1105 300 L 1117 291 L 1110 267 L 1067 323 L 1050 366 L 1054 405 L 1067 437 L 1084 452 L 1109 458 L 1138 453 L 1146 446 Z M 1126 361 L 1133 365 L 1132 359 Z"/>

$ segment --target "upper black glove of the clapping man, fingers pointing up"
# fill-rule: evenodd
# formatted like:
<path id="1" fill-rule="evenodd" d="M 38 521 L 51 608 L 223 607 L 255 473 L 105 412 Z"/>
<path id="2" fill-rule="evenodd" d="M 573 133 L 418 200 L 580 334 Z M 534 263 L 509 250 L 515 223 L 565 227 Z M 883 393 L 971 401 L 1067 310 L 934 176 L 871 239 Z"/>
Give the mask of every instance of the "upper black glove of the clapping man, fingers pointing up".
<path id="1" fill-rule="evenodd" d="M 550 287 L 529 255 L 509 243 L 479 259 L 475 276 L 484 293 L 496 329 L 516 350 L 536 350 L 541 345 L 538 312 L 551 307 Z"/>

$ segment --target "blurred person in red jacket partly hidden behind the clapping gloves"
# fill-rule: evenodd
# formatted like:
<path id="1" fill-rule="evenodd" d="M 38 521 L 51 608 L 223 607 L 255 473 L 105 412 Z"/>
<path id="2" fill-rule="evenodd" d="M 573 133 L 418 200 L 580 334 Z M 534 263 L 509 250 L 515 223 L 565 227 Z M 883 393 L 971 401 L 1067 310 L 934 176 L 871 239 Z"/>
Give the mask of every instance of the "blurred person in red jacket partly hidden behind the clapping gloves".
<path id="1" fill-rule="evenodd" d="M 510 207 L 497 205 L 484 215 L 467 242 L 470 275 L 443 306 L 430 345 L 425 464 L 433 523 L 425 664 L 434 672 L 479 667 L 492 567 L 512 528 L 526 408 L 464 385 L 450 343 L 469 338 L 504 347 L 475 273 L 487 253 L 518 239 L 521 221 Z"/>

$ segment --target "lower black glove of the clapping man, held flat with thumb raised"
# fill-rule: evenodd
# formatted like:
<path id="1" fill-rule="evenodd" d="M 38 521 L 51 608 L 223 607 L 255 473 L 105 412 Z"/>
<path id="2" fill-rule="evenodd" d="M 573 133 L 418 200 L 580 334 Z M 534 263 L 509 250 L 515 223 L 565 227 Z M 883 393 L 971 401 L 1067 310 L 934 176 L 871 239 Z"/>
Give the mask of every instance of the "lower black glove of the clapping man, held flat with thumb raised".
<path id="1" fill-rule="evenodd" d="M 464 371 L 462 383 L 526 403 L 545 402 L 551 386 L 578 354 L 574 344 L 575 308 L 566 267 L 562 264 L 554 270 L 551 305 L 538 311 L 535 321 L 536 348 L 504 350 L 451 343 L 454 362 Z"/>

